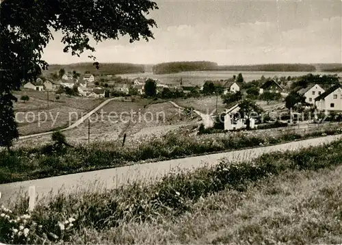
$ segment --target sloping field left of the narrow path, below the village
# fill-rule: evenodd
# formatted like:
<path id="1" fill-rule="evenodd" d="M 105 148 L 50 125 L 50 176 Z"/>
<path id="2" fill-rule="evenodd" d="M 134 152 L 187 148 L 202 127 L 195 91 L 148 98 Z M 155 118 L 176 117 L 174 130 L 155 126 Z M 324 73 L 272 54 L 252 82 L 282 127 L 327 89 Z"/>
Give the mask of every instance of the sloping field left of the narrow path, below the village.
<path id="1" fill-rule="evenodd" d="M 14 103 L 14 111 L 21 136 L 67 127 L 104 101 L 65 94 L 61 94 L 57 100 L 55 93 L 49 92 L 48 108 L 47 92 L 23 90 L 14 95 L 18 98 L 18 102 Z M 29 96 L 29 101 L 21 101 L 23 95 Z"/>

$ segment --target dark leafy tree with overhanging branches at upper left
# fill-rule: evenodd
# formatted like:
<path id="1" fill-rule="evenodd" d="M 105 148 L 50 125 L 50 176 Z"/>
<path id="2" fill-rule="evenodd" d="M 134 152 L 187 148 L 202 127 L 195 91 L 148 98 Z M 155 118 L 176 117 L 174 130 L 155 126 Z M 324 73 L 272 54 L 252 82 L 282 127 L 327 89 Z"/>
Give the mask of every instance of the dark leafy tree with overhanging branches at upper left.
<path id="1" fill-rule="evenodd" d="M 0 5 L 0 146 L 18 136 L 12 109 L 12 90 L 22 81 L 35 81 L 48 68 L 42 51 L 62 31 L 63 51 L 81 55 L 94 51 L 96 42 L 128 35 L 134 42 L 153 38 L 153 19 L 147 18 L 157 4 L 150 0 L 5 0 Z M 91 56 L 93 57 L 93 56 Z M 94 58 L 94 57 L 93 57 Z M 15 64 L 15 65 L 14 65 Z"/>

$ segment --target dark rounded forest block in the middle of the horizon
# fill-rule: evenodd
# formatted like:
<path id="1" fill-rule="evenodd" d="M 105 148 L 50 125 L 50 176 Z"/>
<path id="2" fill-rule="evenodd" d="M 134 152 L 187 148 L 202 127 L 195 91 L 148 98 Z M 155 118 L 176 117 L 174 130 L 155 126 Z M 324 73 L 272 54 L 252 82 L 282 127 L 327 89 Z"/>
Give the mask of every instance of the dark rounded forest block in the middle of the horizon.
<path id="1" fill-rule="evenodd" d="M 153 66 L 153 73 L 155 74 L 168 74 L 180 73 L 182 71 L 195 71 L 195 70 L 215 70 L 218 64 L 215 62 L 167 62 L 156 64 Z"/>

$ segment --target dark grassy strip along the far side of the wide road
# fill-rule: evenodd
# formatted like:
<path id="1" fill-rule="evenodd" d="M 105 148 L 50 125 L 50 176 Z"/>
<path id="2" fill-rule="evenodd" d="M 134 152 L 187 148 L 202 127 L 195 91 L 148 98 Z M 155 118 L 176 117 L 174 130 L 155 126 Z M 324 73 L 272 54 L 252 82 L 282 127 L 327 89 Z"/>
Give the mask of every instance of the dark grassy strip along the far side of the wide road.
<path id="1" fill-rule="evenodd" d="M 137 140 L 124 147 L 121 142 L 98 142 L 91 146 L 65 147 L 62 150 L 44 146 L 36 149 L 17 149 L 10 153 L 2 151 L 0 183 L 116 168 L 146 160 L 161 161 L 280 144 L 338 133 L 341 133 L 340 127 L 306 133 L 278 133 L 274 136 L 263 132 L 238 132 L 223 136 L 179 136 L 176 133 L 168 133 L 163 138 L 156 136 Z"/>

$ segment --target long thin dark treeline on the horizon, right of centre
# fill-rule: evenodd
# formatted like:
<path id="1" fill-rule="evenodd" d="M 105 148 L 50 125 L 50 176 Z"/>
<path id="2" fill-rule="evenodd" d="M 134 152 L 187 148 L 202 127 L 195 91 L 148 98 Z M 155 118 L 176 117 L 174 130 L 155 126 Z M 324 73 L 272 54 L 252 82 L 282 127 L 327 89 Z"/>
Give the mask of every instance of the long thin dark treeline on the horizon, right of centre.
<path id="1" fill-rule="evenodd" d="M 316 71 L 316 67 L 311 64 L 257 64 L 248 66 L 218 66 L 216 70 L 236 70 L 236 71 Z"/>

